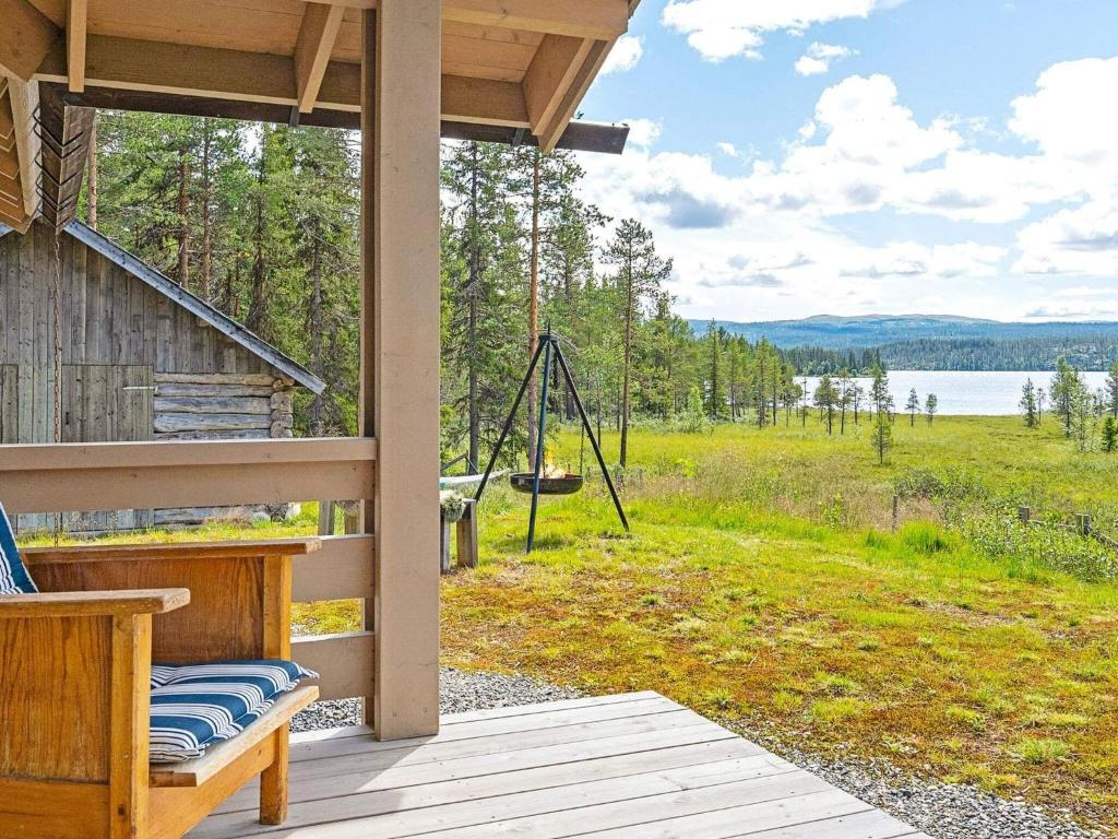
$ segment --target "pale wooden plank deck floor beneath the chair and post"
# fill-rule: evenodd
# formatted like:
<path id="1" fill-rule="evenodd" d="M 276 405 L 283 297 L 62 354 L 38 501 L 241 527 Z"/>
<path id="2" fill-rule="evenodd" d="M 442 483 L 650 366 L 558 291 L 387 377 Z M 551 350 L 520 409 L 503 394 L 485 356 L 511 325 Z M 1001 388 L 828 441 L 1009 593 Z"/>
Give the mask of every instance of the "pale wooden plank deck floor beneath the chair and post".
<path id="1" fill-rule="evenodd" d="M 188 839 L 928 839 L 656 694 L 458 714 L 436 737 L 296 735 L 291 818 L 245 789 Z"/>

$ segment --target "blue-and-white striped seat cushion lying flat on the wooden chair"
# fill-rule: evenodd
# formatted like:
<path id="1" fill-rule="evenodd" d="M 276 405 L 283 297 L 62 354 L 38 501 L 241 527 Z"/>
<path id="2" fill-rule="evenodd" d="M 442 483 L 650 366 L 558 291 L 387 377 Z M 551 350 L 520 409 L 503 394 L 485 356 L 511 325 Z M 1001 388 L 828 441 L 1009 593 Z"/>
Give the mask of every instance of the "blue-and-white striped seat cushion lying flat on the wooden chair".
<path id="1" fill-rule="evenodd" d="M 152 667 L 152 763 L 202 756 L 259 719 L 280 694 L 313 678 L 293 661 Z"/>

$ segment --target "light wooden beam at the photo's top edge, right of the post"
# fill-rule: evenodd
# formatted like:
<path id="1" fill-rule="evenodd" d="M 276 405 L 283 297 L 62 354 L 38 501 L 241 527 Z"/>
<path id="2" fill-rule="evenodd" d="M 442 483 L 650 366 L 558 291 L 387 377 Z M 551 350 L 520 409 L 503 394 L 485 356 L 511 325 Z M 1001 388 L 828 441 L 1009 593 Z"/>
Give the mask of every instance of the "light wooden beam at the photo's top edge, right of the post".
<path id="1" fill-rule="evenodd" d="M 443 0 L 443 20 L 614 40 L 628 29 L 626 0 Z"/>

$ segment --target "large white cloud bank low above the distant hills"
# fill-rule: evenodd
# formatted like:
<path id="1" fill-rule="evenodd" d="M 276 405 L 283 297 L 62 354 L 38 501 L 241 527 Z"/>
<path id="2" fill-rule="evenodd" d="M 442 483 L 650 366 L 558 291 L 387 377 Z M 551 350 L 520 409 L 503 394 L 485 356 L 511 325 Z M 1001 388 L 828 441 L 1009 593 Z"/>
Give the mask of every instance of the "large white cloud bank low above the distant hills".
<path id="1" fill-rule="evenodd" d="M 1118 274 L 1118 98 L 1108 95 L 1116 74 L 1118 59 L 1057 65 L 1013 101 L 1001 126 L 918 120 L 888 76 L 851 76 L 768 159 L 730 142 L 710 154 L 660 151 L 660 124 L 635 121 L 628 153 L 585 160 L 587 197 L 654 229 L 675 258 L 671 291 L 691 301 L 693 317 L 745 317 L 758 301 L 768 301 L 766 313 L 795 315 L 805 305 L 856 313 L 934 299 L 955 311 L 1027 317 L 1059 289 L 1095 289 L 1105 283 L 1088 280 Z M 1024 150 L 979 147 L 1006 138 Z M 723 175 L 714 163 L 723 154 L 748 168 Z M 846 217 L 882 210 L 989 233 L 949 237 L 953 228 L 937 226 L 930 242 L 865 244 L 845 232 Z M 1020 230 L 1007 227 L 1026 218 Z M 1070 317 L 1116 299 L 1069 291 L 1055 302 Z"/>

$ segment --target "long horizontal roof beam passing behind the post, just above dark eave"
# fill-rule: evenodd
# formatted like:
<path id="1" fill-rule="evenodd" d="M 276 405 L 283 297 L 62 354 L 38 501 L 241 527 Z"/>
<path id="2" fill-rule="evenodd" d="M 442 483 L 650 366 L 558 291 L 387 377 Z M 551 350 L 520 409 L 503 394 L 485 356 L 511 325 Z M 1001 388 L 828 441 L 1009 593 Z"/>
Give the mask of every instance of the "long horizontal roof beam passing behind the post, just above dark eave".
<path id="1" fill-rule="evenodd" d="M 68 82 L 60 46 L 49 50 L 36 77 Z M 296 78 L 295 60 L 286 56 L 98 35 L 87 39 L 91 86 L 292 107 L 300 101 Z M 442 101 L 445 120 L 529 128 L 523 88 L 511 82 L 443 76 Z M 360 113 L 360 65 L 330 62 L 316 109 Z"/>

